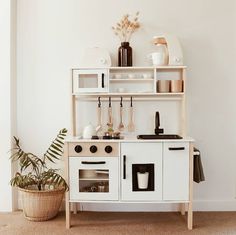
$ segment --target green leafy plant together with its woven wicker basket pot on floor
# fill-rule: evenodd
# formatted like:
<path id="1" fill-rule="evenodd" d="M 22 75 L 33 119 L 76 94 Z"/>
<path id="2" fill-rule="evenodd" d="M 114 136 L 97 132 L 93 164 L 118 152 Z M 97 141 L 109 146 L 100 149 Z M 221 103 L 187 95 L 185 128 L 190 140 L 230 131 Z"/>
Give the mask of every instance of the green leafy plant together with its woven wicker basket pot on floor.
<path id="1" fill-rule="evenodd" d="M 44 221 L 55 217 L 68 185 L 48 163 L 56 163 L 63 154 L 67 130 L 59 131 L 57 137 L 41 157 L 25 152 L 18 138 L 12 149 L 12 161 L 19 161 L 19 171 L 11 179 L 12 186 L 19 189 L 24 216 L 32 221 Z"/>

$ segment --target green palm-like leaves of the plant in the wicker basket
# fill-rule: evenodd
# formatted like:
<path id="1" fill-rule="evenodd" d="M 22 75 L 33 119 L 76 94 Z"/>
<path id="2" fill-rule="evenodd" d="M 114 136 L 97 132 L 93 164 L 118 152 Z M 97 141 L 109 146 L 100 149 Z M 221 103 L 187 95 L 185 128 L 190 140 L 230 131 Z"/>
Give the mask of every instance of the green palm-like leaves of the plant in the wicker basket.
<path id="1" fill-rule="evenodd" d="M 10 184 L 26 189 L 36 187 L 40 191 L 51 188 L 68 190 L 65 179 L 57 173 L 58 169 L 47 166 L 47 163 L 56 163 L 55 161 L 62 156 L 66 134 L 67 130 L 65 128 L 60 130 L 42 157 L 25 152 L 20 146 L 19 139 L 14 136 L 16 147 L 12 150 L 11 159 L 12 161 L 19 161 L 20 171 L 16 172 Z"/>

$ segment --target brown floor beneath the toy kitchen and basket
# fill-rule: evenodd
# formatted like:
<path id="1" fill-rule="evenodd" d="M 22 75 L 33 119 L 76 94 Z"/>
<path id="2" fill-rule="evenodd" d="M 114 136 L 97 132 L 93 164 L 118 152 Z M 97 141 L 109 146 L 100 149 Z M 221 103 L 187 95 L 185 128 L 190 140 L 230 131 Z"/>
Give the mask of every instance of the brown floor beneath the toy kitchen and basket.
<path id="1" fill-rule="evenodd" d="M 186 219 L 177 212 L 81 212 L 66 230 L 64 213 L 46 222 L 27 221 L 22 212 L 0 213 L 0 235 L 236 235 L 236 212 L 195 212 L 192 231 Z"/>

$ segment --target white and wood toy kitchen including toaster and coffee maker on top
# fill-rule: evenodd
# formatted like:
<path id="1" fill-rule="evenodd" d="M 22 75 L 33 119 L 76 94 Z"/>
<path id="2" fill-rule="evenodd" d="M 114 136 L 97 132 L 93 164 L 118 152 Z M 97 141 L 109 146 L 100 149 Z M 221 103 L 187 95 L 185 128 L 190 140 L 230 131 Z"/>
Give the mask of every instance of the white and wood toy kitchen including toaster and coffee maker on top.
<path id="1" fill-rule="evenodd" d="M 112 67 L 89 49 L 72 69 L 73 136 L 65 143 L 66 227 L 75 203 L 177 203 L 192 229 L 193 139 L 186 133 L 186 66 L 178 40 L 152 65 Z"/>

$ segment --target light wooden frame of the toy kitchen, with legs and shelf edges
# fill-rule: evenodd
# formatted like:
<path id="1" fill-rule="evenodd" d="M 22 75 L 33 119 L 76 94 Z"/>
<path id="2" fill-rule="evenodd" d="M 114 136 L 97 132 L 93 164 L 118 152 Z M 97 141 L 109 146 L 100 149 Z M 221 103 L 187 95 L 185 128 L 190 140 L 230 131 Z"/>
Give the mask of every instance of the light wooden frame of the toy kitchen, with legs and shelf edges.
<path id="1" fill-rule="evenodd" d="M 83 68 L 82 68 L 83 69 Z M 88 68 L 86 68 L 88 69 Z M 72 78 L 74 77 L 74 73 L 75 71 L 78 71 L 79 69 L 73 69 L 72 70 Z M 158 141 L 153 141 L 153 140 L 137 140 L 137 139 L 124 139 L 124 140 L 114 140 L 112 141 L 112 143 L 118 143 L 119 145 L 119 166 L 120 168 L 119 170 L 119 185 L 122 184 L 122 179 L 121 179 L 121 172 L 122 172 L 122 149 L 124 146 L 124 143 L 133 143 L 133 144 L 140 144 L 140 143 L 159 143 L 162 146 L 162 153 L 164 152 L 165 149 L 165 145 L 169 146 L 168 144 L 173 144 L 174 146 L 179 146 L 179 144 L 181 143 L 185 143 L 188 146 L 188 165 L 187 168 L 188 170 L 186 172 L 188 172 L 188 198 L 187 200 L 163 200 L 163 192 L 161 192 L 161 199 L 157 199 L 157 200 L 147 200 L 147 201 L 134 201 L 135 203 L 140 202 L 140 203 L 179 203 L 180 204 L 180 212 L 182 215 L 185 215 L 185 211 L 187 209 L 187 227 L 188 229 L 192 229 L 193 227 L 193 211 L 192 211 L 192 204 L 193 204 L 193 139 L 186 137 L 186 107 L 185 107 L 185 102 L 186 102 L 186 97 L 185 97 L 185 88 L 186 88 L 186 66 L 159 66 L 159 67 L 112 67 L 112 68 L 107 68 L 108 70 L 108 87 L 107 87 L 107 91 L 108 92 L 92 92 L 92 93 L 87 93 L 87 92 L 79 92 L 79 93 L 75 93 L 74 88 L 73 88 L 73 84 L 75 84 L 74 79 L 72 82 L 72 131 L 73 131 L 73 137 L 68 138 L 66 143 L 65 143 L 65 151 L 64 151 L 64 155 L 65 155 L 65 174 L 66 174 L 66 180 L 69 183 L 70 188 L 73 187 L 73 185 L 70 185 L 70 158 L 71 157 L 80 157 L 79 154 L 73 154 L 73 149 L 75 145 L 83 145 L 85 144 L 84 149 L 87 146 L 87 150 L 89 149 L 89 146 L 91 146 L 94 143 L 106 143 L 107 141 L 105 140 L 81 140 L 81 139 L 77 139 L 77 117 L 76 117 L 76 108 L 77 105 L 80 101 L 80 99 L 85 99 L 85 100 L 91 100 L 91 101 L 97 101 L 97 97 L 113 97 L 113 99 L 118 99 L 120 96 L 124 97 L 124 99 L 129 99 L 130 96 L 134 97 L 135 100 L 145 100 L 146 102 L 148 102 L 149 100 L 156 100 L 158 102 L 158 100 L 179 100 L 181 102 L 181 133 L 179 133 L 183 139 L 181 140 L 158 140 Z M 183 80 L 183 90 L 182 92 L 179 93 L 158 93 L 157 92 L 157 88 L 156 88 L 156 82 L 157 82 L 157 73 L 158 71 L 179 71 L 181 74 L 180 79 Z M 94 68 L 93 68 L 94 71 Z M 125 79 L 122 78 L 114 78 L 114 81 L 112 77 L 111 77 L 111 73 L 118 73 L 120 71 L 134 71 L 135 73 L 137 73 L 137 71 L 141 71 L 141 73 L 148 73 L 148 72 L 152 72 L 153 73 L 153 77 L 152 78 L 146 78 L 144 80 L 141 81 L 141 83 L 147 83 L 148 87 L 152 87 L 153 86 L 153 90 L 151 90 L 150 92 L 146 93 L 146 92 L 115 92 L 115 90 L 112 88 L 111 83 L 127 83 L 127 81 Z M 143 72 L 144 71 L 144 72 Z M 129 78 L 127 78 L 129 79 Z M 128 81 L 128 83 L 131 84 L 139 84 L 140 83 L 140 78 L 137 79 L 130 79 L 130 81 Z M 152 80 L 153 81 L 152 81 Z M 78 84 L 78 83 L 76 83 Z M 152 84 L 152 85 L 150 85 Z M 100 87 L 101 88 L 101 87 Z M 99 88 L 99 89 L 100 89 Z M 71 148 L 72 152 L 71 152 Z M 89 153 L 87 152 L 85 154 L 86 156 L 89 155 Z M 94 155 L 95 156 L 95 155 Z M 110 157 L 110 155 L 109 155 Z M 162 164 L 165 164 L 165 158 L 162 158 L 163 162 Z M 162 165 L 163 166 L 163 165 Z M 168 175 L 168 174 L 167 174 Z M 163 176 L 163 174 L 162 174 Z M 162 179 L 163 182 L 164 179 Z M 99 203 L 107 203 L 107 202 L 113 202 L 113 203 L 132 203 L 132 201 L 125 201 L 122 200 L 121 197 L 121 187 L 119 187 L 119 197 L 118 200 L 114 200 L 114 201 L 106 201 L 106 200 L 100 200 Z M 71 205 L 73 205 L 75 202 L 76 203 L 83 203 L 83 202 L 98 202 L 98 201 L 94 201 L 94 200 L 71 200 L 71 195 L 70 195 L 70 191 L 66 192 L 66 228 L 70 228 L 71 226 Z"/>

